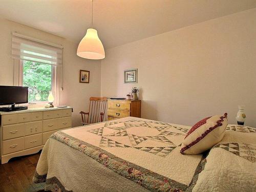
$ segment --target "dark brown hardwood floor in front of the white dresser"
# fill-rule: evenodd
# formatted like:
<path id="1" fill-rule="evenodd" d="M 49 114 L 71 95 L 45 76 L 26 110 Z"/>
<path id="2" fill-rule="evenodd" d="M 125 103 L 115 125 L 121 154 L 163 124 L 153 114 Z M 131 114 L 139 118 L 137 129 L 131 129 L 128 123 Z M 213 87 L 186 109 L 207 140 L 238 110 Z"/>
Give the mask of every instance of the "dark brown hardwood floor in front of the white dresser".
<path id="1" fill-rule="evenodd" d="M 13 158 L 8 163 L 0 164 L 0 191 L 44 191 L 45 183 L 32 183 L 39 156 L 40 152 Z"/>

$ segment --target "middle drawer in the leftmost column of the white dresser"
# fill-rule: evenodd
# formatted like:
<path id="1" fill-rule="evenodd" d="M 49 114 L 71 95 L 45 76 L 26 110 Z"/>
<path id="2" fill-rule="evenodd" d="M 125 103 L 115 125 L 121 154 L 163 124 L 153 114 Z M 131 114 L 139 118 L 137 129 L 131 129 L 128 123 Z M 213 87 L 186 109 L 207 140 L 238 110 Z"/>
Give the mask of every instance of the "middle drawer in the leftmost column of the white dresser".
<path id="1" fill-rule="evenodd" d="M 24 123 L 3 126 L 3 140 L 24 136 Z"/>

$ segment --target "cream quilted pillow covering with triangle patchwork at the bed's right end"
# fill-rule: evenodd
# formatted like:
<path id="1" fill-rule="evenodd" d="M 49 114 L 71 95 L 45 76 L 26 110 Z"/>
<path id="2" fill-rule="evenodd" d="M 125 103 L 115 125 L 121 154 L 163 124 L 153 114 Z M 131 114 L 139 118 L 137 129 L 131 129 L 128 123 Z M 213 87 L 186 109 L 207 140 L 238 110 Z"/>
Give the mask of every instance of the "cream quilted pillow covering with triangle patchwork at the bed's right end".
<path id="1" fill-rule="evenodd" d="M 256 191 L 256 129 L 228 125 L 224 138 L 202 161 L 193 191 Z"/>

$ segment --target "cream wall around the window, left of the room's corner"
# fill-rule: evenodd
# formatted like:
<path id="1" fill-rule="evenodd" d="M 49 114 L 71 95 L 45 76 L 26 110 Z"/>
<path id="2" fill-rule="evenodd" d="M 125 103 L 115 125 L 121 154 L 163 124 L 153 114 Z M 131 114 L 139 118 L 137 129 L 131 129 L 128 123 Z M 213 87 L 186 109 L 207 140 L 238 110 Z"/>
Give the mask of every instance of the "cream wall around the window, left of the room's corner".
<path id="1" fill-rule="evenodd" d="M 100 61 L 76 56 L 77 44 L 67 39 L 42 32 L 0 18 L 0 84 L 13 85 L 13 59 L 11 58 L 11 33 L 17 32 L 37 39 L 60 44 L 63 49 L 63 91 L 61 105 L 73 106 L 72 125 L 81 125 L 79 111 L 88 110 L 89 97 L 100 95 Z M 90 83 L 79 83 L 79 70 L 90 71 Z"/>

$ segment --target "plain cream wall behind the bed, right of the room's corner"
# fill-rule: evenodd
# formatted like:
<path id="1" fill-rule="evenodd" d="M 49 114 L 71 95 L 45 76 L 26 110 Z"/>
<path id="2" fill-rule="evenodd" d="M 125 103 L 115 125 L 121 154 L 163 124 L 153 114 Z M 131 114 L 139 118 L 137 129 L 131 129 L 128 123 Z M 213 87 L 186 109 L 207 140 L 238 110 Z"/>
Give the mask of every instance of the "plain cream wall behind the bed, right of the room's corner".
<path id="1" fill-rule="evenodd" d="M 255 37 L 251 9 L 106 50 L 101 95 L 123 97 L 137 86 L 142 118 L 187 125 L 224 112 L 235 123 L 245 104 L 246 125 L 256 127 Z M 131 68 L 138 84 L 123 83 Z"/>

